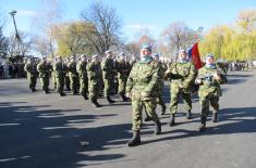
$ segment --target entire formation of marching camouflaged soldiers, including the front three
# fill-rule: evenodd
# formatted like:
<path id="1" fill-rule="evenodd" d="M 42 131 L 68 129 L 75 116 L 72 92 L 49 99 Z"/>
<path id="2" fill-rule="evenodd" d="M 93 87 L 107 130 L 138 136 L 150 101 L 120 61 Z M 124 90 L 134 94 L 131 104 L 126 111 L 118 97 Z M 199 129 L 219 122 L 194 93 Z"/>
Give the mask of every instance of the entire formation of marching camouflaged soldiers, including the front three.
<path id="1" fill-rule="evenodd" d="M 75 57 L 70 57 L 69 63 L 64 63 L 61 56 L 57 56 L 52 64 L 46 59 L 42 59 L 38 65 L 33 60 L 28 60 L 24 68 L 27 72 L 32 92 L 36 91 L 39 73 L 46 94 L 49 93 L 51 76 L 53 87 L 61 96 L 65 95 L 63 88 L 70 81 L 72 93 L 77 94 L 80 90 L 81 95 L 89 100 L 95 107 L 101 107 L 97 99 L 102 88 L 103 95 L 110 104 L 115 103 L 111 99 L 114 93 L 119 93 L 124 102 L 131 101 L 133 137 L 127 142 L 127 146 L 141 144 L 143 109 L 146 112 L 144 120 L 151 120 L 155 124 L 155 134 L 161 133 L 161 122 L 156 113 L 156 106 L 161 105 L 161 115 L 164 115 L 167 108 L 162 93 L 164 80 L 170 81 L 169 126 L 175 126 L 180 95 L 185 104 L 186 118 L 192 118 L 191 88 L 197 86 L 202 105 L 198 131 L 204 131 L 209 105 L 214 108 L 212 121 L 217 121 L 219 98 L 222 94 L 220 85 L 227 79 L 224 73 L 215 63 L 212 54 L 206 55 L 205 65 L 197 70 L 188 60 L 185 50 L 179 51 L 176 62 L 163 64 L 159 60 L 159 54 L 153 54 L 151 47 L 148 44 L 141 47 L 141 56 L 137 61 L 127 60 L 123 53 L 119 59 L 113 60 L 113 54 L 109 50 L 106 51 L 102 60 L 97 54 L 90 59 L 81 55 L 77 63 Z"/>

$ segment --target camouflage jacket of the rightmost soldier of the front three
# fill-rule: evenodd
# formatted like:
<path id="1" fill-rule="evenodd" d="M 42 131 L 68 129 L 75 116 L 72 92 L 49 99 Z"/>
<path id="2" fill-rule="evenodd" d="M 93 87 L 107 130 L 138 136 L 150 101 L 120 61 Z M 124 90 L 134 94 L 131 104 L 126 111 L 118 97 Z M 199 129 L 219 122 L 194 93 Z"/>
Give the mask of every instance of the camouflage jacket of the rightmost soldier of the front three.
<path id="1" fill-rule="evenodd" d="M 220 75 L 221 80 L 218 81 L 214 78 L 214 74 L 216 73 Z M 198 90 L 199 96 L 208 96 L 208 95 L 221 96 L 222 95 L 220 83 L 222 83 L 223 81 L 223 76 L 221 75 L 217 66 L 215 66 L 215 68 L 208 68 L 206 66 L 199 68 L 196 80 L 197 79 L 203 80 L 203 83 L 199 86 L 199 90 Z"/>

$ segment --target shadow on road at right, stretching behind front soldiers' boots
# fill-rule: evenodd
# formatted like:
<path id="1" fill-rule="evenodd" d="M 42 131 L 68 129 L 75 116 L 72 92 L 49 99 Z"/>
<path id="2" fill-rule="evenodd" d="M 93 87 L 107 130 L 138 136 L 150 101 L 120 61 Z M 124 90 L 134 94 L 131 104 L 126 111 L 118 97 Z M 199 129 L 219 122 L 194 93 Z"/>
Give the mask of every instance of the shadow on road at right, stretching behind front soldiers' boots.
<path id="1" fill-rule="evenodd" d="M 205 132 L 198 132 L 197 130 L 173 129 L 171 131 L 162 133 L 170 135 L 157 140 L 145 141 L 143 142 L 143 144 L 198 137 L 198 135 L 255 133 L 256 132 L 255 112 L 256 107 L 223 108 L 220 111 L 219 122 L 217 125 L 212 126 L 212 124 L 209 124 L 210 121 L 208 117 L 208 121 L 206 124 L 207 129 Z M 228 124 L 225 124 L 224 121 L 228 121 Z M 209 125 L 211 126 L 209 127 Z M 182 133 L 182 134 L 172 135 L 174 133 Z"/>

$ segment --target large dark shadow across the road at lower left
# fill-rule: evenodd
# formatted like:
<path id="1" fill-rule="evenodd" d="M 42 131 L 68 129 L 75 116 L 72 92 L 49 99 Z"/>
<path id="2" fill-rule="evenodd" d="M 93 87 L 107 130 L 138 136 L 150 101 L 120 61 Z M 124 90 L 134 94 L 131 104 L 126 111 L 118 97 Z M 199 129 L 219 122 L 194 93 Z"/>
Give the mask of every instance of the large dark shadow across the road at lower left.
<path id="1" fill-rule="evenodd" d="M 123 146 L 122 139 L 130 138 L 127 124 L 89 127 L 95 120 L 115 114 L 72 115 L 80 109 L 44 109 L 49 105 L 24 103 L 0 103 L 1 168 L 73 168 L 86 166 L 89 160 L 106 163 L 123 157 L 122 154 L 86 154 Z"/>

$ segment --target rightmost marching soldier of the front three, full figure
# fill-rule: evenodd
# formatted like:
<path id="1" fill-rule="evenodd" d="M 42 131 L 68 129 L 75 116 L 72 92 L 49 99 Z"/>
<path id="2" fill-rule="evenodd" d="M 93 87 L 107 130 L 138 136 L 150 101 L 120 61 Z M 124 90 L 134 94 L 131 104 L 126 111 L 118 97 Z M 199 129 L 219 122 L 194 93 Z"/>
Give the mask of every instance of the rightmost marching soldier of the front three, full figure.
<path id="1" fill-rule="evenodd" d="M 209 104 L 212 106 L 212 121 L 217 121 L 219 111 L 219 98 L 222 95 L 220 83 L 224 82 L 224 74 L 214 62 L 214 55 L 206 56 L 206 65 L 198 70 L 195 83 L 199 85 L 198 96 L 200 102 L 199 131 L 206 128 L 206 119 L 209 114 Z"/>

